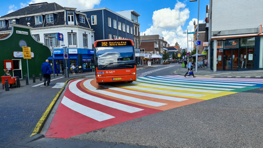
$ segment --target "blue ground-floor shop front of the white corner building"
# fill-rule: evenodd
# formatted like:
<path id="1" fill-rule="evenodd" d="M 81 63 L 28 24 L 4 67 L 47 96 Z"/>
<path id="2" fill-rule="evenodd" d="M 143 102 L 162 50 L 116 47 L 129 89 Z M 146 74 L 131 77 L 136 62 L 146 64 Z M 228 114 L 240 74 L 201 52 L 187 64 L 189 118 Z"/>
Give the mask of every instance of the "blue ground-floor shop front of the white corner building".
<path id="1" fill-rule="evenodd" d="M 91 57 L 94 54 L 92 49 L 68 48 L 68 60 L 64 59 L 63 53 L 63 49 L 54 49 L 53 57 L 48 57 L 50 64 L 54 63 L 55 73 L 63 73 L 66 65 L 67 67 L 81 66 L 83 72 L 92 71 Z"/>

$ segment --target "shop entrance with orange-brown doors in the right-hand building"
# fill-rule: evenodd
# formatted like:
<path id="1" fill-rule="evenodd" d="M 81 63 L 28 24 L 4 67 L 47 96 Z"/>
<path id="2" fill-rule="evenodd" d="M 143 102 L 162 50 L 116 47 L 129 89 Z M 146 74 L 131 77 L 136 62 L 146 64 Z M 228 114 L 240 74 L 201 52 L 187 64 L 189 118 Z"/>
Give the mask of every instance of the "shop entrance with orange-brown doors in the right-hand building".
<path id="1" fill-rule="evenodd" d="M 238 49 L 224 50 L 224 70 L 238 70 Z"/>

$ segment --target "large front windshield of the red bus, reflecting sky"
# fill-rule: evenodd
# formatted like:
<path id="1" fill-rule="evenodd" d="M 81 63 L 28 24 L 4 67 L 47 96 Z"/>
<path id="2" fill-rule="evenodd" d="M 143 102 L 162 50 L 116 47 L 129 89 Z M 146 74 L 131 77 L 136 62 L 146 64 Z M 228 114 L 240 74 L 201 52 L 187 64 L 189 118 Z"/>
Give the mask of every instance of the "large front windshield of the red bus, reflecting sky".
<path id="1" fill-rule="evenodd" d="M 112 67 L 122 65 L 134 65 L 133 46 L 107 46 L 96 47 L 96 56 L 98 57 L 98 67 Z"/>

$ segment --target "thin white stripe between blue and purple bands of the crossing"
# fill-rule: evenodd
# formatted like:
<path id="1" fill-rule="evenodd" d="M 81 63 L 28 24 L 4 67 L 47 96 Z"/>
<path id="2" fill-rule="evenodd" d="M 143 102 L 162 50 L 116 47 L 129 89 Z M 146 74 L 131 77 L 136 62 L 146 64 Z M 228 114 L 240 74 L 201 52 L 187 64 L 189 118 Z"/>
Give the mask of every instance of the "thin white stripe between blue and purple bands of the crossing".
<path id="1" fill-rule="evenodd" d="M 167 80 L 165 79 L 166 77 L 162 77 L 162 76 L 157 76 L 157 77 L 148 77 L 148 78 L 159 78 L 160 80 Z M 189 82 L 187 80 L 182 80 L 182 79 L 176 79 L 176 78 L 172 78 L 172 80 L 175 80 L 176 82 Z M 196 81 L 192 81 L 191 83 L 213 83 L 213 84 L 223 84 L 225 86 L 227 85 L 241 85 L 241 86 L 255 86 L 255 84 L 240 84 L 240 83 L 221 83 L 221 82 L 207 82 L 207 81 L 202 81 L 200 82 L 199 80 Z M 203 84 L 202 84 L 203 85 Z M 220 86 L 219 86 L 220 87 Z"/>

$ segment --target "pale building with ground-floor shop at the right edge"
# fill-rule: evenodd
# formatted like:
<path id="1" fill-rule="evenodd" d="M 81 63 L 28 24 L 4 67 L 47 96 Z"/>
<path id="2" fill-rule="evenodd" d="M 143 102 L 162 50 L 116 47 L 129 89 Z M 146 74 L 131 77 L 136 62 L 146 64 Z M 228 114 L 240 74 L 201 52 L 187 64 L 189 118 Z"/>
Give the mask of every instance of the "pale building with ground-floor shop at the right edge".
<path id="1" fill-rule="evenodd" d="M 263 1 L 210 0 L 209 48 L 214 71 L 263 69 L 262 5 Z"/>

